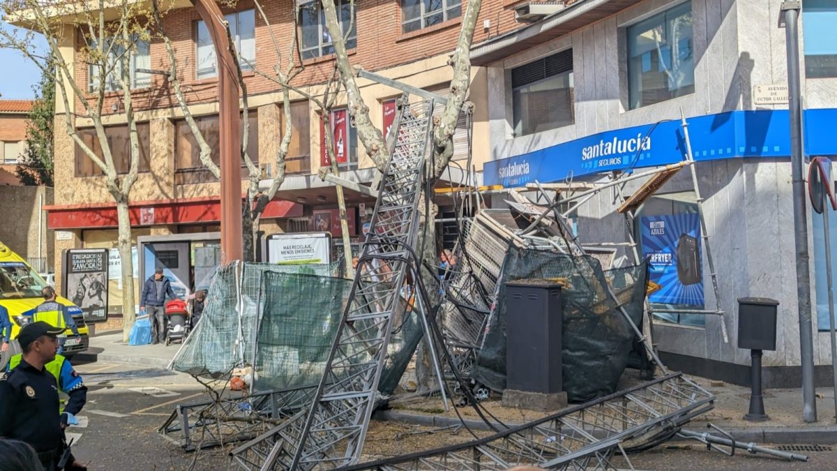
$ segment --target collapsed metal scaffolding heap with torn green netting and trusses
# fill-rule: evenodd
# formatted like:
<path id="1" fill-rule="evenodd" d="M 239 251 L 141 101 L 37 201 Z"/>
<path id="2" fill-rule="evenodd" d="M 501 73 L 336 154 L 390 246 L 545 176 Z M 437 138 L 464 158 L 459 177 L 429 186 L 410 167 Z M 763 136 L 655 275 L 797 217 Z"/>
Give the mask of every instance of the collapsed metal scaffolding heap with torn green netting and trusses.
<path id="1" fill-rule="evenodd" d="M 241 397 L 177 406 L 160 429 L 164 436 L 190 450 L 242 443 L 230 452 L 242 469 L 501 469 L 515 464 L 611 469 L 614 455 L 629 464 L 627 451 L 650 448 L 711 409 L 714 397 L 691 380 L 668 374 L 655 353 L 647 305 L 643 308 L 650 285 L 643 261 L 636 255 L 634 267 L 604 270 L 557 210 L 630 179 L 651 177 L 659 188 L 661 172 L 692 165 L 691 151 L 684 163 L 662 171 L 624 176 L 567 198 L 557 193 L 547 207 L 511 191 L 510 210 L 480 208 L 472 218 L 462 215 L 454 248 L 460 263 L 449 267 L 440 287 L 424 287 L 422 262 L 413 247 L 419 240 L 418 204 L 432 148 L 434 104 L 444 99 L 366 76 L 403 95 L 391 159 L 354 280 L 334 277 L 331 266 L 223 267 L 213 281 L 205 320 L 172 367 L 224 377 L 249 365 L 250 389 Z M 464 194 L 479 200 L 473 186 Z M 652 194 L 646 186 L 644 193 Z M 703 230 L 706 237 L 705 225 Z M 712 277 L 715 282 L 714 270 Z M 564 345 L 573 355 L 565 355 L 564 367 L 577 374 L 564 377 L 571 399 L 588 402 L 509 427 L 486 417 L 490 414 L 480 401 L 505 386 L 504 283 L 532 278 L 557 280 L 567 292 L 565 335 L 573 341 Z M 428 296 L 435 289 L 443 293 L 438 310 Z M 416 293 L 414 304 L 410 292 Z M 422 337 L 433 359 L 443 360 L 436 365 L 442 391 L 459 399 L 454 403 L 475 407 L 495 433 L 454 447 L 361 463 L 372 411 L 395 391 Z M 597 357 L 602 349 L 610 355 Z M 627 356 L 635 350 L 664 375 L 617 392 Z M 605 366 L 606 371 L 596 369 Z"/>

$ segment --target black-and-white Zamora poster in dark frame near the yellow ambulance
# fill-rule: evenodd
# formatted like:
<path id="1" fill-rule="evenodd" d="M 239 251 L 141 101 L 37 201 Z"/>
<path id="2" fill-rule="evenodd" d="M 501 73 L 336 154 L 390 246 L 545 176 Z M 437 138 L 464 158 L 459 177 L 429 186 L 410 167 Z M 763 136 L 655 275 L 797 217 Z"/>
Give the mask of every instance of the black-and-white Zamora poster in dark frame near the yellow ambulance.
<path id="1" fill-rule="evenodd" d="M 87 323 L 107 320 L 109 255 L 107 249 L 64 251 L 61 294 L 81 308 Z"/>

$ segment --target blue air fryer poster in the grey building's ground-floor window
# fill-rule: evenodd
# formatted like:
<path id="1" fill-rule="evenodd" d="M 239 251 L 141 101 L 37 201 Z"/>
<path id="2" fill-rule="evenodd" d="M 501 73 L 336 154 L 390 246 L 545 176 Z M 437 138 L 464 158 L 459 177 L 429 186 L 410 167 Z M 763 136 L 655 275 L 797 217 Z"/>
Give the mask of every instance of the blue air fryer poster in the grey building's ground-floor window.
<path id="1" fill-rule="evenodd" d="M 703 307 L 701 220 L 696 213 L 639 218 L 642 253 L 652 282 L 662 288 L 650 303 Z"/>

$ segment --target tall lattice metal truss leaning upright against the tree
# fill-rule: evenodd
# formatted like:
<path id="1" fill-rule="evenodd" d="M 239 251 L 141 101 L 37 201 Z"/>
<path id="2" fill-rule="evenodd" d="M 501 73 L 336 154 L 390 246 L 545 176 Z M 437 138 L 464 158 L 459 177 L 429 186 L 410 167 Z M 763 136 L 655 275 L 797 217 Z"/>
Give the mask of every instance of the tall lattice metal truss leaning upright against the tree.
<path id="1" fill-rule="evenodd" d="M 418 204 L 434 100 L 405 93 L 396 138 L 347 308 L 311 401 L 284 424 L 233 451 L 241 468 L 336 468 L 357 463 L 393 326 L 405 315 L 403 282 L 419 235 Z"/>

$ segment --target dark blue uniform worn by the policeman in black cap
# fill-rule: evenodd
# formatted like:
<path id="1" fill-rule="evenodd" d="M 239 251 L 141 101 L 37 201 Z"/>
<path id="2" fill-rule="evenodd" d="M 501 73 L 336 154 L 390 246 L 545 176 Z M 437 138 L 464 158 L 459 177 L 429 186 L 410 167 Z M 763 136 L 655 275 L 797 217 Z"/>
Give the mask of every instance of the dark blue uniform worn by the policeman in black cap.
<path id="1" fill-rule="evenodd" d="M 21 360 L 0 379 L 0 437 L 32 445 L 48 471 L 56 467 L 63 451 L 58 410 L 55 378 L 46 368 L 36 370 Z"/>

